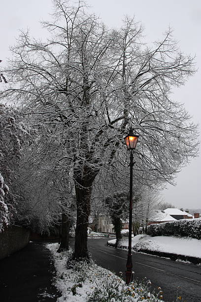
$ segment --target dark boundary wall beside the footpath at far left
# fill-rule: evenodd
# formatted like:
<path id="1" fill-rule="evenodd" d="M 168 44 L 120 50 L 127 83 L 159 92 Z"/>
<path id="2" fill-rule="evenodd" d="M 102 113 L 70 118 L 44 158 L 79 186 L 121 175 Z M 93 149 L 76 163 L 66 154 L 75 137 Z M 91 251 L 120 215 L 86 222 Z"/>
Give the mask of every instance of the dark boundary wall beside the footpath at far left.
<path id="1" fill-rule="evenodd" d="M 0 259 L 21 250 L 30 240 L 30 230 L 10 226 L 0 233 Z"/>

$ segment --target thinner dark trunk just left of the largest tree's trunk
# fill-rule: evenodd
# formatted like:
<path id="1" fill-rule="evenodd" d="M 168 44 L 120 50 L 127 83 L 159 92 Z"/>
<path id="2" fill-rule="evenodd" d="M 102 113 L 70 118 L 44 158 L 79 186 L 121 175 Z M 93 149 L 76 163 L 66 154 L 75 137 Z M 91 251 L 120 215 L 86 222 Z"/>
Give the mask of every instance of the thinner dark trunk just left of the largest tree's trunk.
<path id="1" fill-rule="evenodd" d="M 61 243 L 58 249 L 58 253 L 66 251 L 69 249 L 69 230 L 70 230 L 70 221 L 67 218 L 67 214 L 62 213 L 62 232 L 61 232 Z"/>

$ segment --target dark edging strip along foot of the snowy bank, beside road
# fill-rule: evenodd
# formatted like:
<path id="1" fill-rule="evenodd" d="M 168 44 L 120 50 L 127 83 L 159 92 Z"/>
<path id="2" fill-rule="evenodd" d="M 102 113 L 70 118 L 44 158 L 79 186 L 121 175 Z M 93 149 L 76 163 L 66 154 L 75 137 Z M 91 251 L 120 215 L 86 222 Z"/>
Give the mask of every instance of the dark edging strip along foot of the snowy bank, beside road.
<path id="1" fill-rule="evenodd" d="M 110 243 L 108 241 L 107 241 L 107 245 L 111 246 L 111 247 L 115 247 L 115 243 Z M 128 250 L 128 247 L 125 245 L 119 245 L 118 248 Z M 152 250 L 148 250 L 148 249 L 135 249 L 135 248 L 132 248 L 132 249 L 134 250 L 134 252 L 137 252 L 137 253 L 146 253 L 146 254 L 150 254 L 150 255 L 154 255 L 154 256 L 158 256 L 158 257 L 170 258 L 173 261 L 181 260 L 181 261 L 189 261 L 192 264 L 201 264 L 201 258 L 198 258 L 198 257 L 166 253 L 166 252 L 160 252 L 160 251 L 152 251 Z"/>

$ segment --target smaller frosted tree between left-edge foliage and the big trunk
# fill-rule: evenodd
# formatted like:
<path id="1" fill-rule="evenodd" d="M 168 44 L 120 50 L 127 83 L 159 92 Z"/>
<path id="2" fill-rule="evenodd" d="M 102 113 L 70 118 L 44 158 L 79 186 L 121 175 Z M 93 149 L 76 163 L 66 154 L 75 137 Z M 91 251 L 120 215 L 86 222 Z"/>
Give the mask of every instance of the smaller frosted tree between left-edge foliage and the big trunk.
<path id="1" fill-rule="evenodd" d="M 14 189 L 23 196 L 18 203 L 16 222 L 37 233 L 49 233 L 66 216 L 72 220 L 74 200 L 69 169 L 63 167 L 65 149 L 60 148 L 61 136 L 53 135 L 54 127 L 37 124 L 31 145 L 24 146 Z M 54 138 L 53 138 L 54 137 Z M 67 165 L 66 165 L 67 167 Z"/>

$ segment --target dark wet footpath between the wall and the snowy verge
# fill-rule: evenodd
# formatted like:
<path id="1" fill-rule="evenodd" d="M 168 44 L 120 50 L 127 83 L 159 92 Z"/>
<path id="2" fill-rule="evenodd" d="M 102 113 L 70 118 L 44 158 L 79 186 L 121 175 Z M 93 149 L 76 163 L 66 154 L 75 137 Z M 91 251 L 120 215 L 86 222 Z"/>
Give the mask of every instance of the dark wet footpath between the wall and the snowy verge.
<path id="1" fill-rule="evenodd" d="M 0 302 L 56 302 L 61 296 L 52 286 L 54 265 L 42 243 L 0 260 Z"/>

